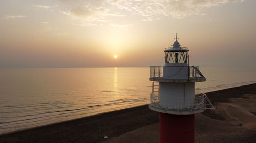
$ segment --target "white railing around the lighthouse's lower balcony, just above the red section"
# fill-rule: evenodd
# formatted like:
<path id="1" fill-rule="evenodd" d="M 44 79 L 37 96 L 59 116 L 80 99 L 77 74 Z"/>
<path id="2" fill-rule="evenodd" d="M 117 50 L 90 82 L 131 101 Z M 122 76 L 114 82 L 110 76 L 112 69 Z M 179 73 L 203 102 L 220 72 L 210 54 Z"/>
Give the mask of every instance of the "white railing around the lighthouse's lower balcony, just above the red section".
<path id="1" fill-rule="evenodd" d="M 195 109 L 214 109 L 214 106 L 211 104 L 205 93 L 197 94 L 194 98 L 193 104 L 163 104 L 160 105 L 159 95 L 151 93 L 150 95 L 151 105 L 155 106 L 158 109 L 163 110 L 195 110 Z"/>

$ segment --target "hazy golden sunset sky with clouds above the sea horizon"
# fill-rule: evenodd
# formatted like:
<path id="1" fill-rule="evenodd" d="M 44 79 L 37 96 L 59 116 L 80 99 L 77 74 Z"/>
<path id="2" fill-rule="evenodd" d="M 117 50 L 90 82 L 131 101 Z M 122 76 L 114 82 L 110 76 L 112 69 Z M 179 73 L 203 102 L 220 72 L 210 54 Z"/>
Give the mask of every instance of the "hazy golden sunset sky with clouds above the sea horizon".
<path id="1" fill-rule="evenodd" d="M 0 68 L 256 67 L 255 0 L 0 1 Z M 114 56 L 117 58 L 114 58 Z"/>

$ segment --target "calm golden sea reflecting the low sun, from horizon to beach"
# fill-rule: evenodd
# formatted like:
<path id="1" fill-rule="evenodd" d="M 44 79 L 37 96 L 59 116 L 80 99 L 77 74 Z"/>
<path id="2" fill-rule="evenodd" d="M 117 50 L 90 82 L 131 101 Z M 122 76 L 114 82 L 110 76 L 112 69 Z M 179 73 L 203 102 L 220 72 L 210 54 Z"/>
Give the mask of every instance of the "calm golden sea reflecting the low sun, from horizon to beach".
<path id="1" fill-rule="evenodd" d="M 256 67 L 200 67 L 207 92 L 256 82 Z M 150 102 L 150 68 L 0 69 L 0 134 Z"/>

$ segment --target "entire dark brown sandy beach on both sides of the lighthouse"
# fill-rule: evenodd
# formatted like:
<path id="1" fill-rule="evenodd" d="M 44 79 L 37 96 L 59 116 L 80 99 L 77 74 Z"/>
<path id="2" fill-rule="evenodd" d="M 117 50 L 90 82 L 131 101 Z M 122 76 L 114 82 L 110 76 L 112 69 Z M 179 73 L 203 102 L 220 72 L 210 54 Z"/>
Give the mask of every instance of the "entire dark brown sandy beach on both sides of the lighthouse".
<path id="1" fill-rule="evenodd" d="M 255 142 L 256 83 L 207 96 L 216 109 L 196 115 L 196 142 Z M 158 142 L 158 122 L 143 105 L 3 134 L 0 142 Z"/>

